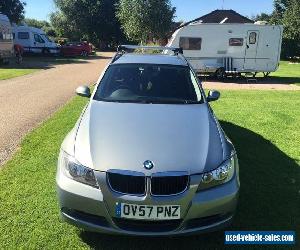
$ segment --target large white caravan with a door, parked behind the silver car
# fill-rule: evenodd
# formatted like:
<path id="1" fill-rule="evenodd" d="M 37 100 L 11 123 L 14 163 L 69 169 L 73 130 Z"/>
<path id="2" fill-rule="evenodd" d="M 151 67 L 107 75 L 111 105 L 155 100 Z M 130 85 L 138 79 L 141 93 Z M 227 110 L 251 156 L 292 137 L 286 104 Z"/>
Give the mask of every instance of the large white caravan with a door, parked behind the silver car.
<path id="1" fill-rule="evenodd" d="M 173 34 L 168 46 L 182 47 L 197 73 L 229 74 L 277 70 L 283 27 L 255 24 L 191 23 Z"/>

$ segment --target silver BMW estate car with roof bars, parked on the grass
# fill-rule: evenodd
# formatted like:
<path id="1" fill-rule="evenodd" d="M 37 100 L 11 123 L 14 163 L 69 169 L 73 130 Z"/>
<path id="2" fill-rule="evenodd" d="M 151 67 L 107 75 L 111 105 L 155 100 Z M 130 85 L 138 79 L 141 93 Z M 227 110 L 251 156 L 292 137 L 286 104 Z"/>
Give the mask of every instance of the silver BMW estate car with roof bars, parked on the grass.
<path id="1" fill-rule="evenodd" d="M 61 146 L 60 213 L 87 231 L 181 235 L 227 226 L 236 210 L 239 170 L 181 49 L 120 46 Z M 151 47 L 152 48 L 152 47 Z M 153 48 L 152 48 L 153 49 Z"/>

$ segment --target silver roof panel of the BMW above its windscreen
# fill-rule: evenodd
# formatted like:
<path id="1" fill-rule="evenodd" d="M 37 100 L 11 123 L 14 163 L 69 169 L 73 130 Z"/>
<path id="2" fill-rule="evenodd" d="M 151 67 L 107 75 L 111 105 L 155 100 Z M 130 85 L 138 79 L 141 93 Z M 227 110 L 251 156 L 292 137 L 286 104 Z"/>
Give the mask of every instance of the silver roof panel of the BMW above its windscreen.
<path id="1" fill-rule="evenodd" d="M 164 54 L 124 54 L 112 64 L 166 64 L 177 66 L 188 66 L 187 62 L 176 55 Z"/>

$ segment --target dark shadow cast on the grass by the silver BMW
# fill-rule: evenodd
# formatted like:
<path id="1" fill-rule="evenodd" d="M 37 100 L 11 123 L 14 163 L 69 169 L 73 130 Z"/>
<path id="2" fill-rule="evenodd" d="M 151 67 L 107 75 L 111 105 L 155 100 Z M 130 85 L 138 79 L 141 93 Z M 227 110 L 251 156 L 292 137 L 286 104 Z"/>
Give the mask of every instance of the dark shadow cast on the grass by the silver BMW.
<path id="1" fill-rule="evenodd" d="M 221 125 L 238 152 L 241 180 L 237 214 L 232 226 L 226 230 L 295 230 L 299 235 L 299 165 L 262 136 L 228 122 L 221 122 Z M 93 249 L 224 248 L 223 231 L 172 238 L 80 232 L 80 237 Z M 278 249 L 274 246 L 271 248 Z M 280 246 L 280 249 L 296 248 Z"/>

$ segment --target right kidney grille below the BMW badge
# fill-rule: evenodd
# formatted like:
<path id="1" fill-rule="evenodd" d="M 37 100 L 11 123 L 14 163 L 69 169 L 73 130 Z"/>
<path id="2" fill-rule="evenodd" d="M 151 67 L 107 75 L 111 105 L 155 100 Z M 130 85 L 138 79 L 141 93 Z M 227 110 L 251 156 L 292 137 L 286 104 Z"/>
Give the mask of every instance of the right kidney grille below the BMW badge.
<path id="1" fill-rule="evenodd" d="M 152 195 L 174 195 L 184 192 L 189 184 L 189 176 L 153 176 L 151 178 Z"/>

